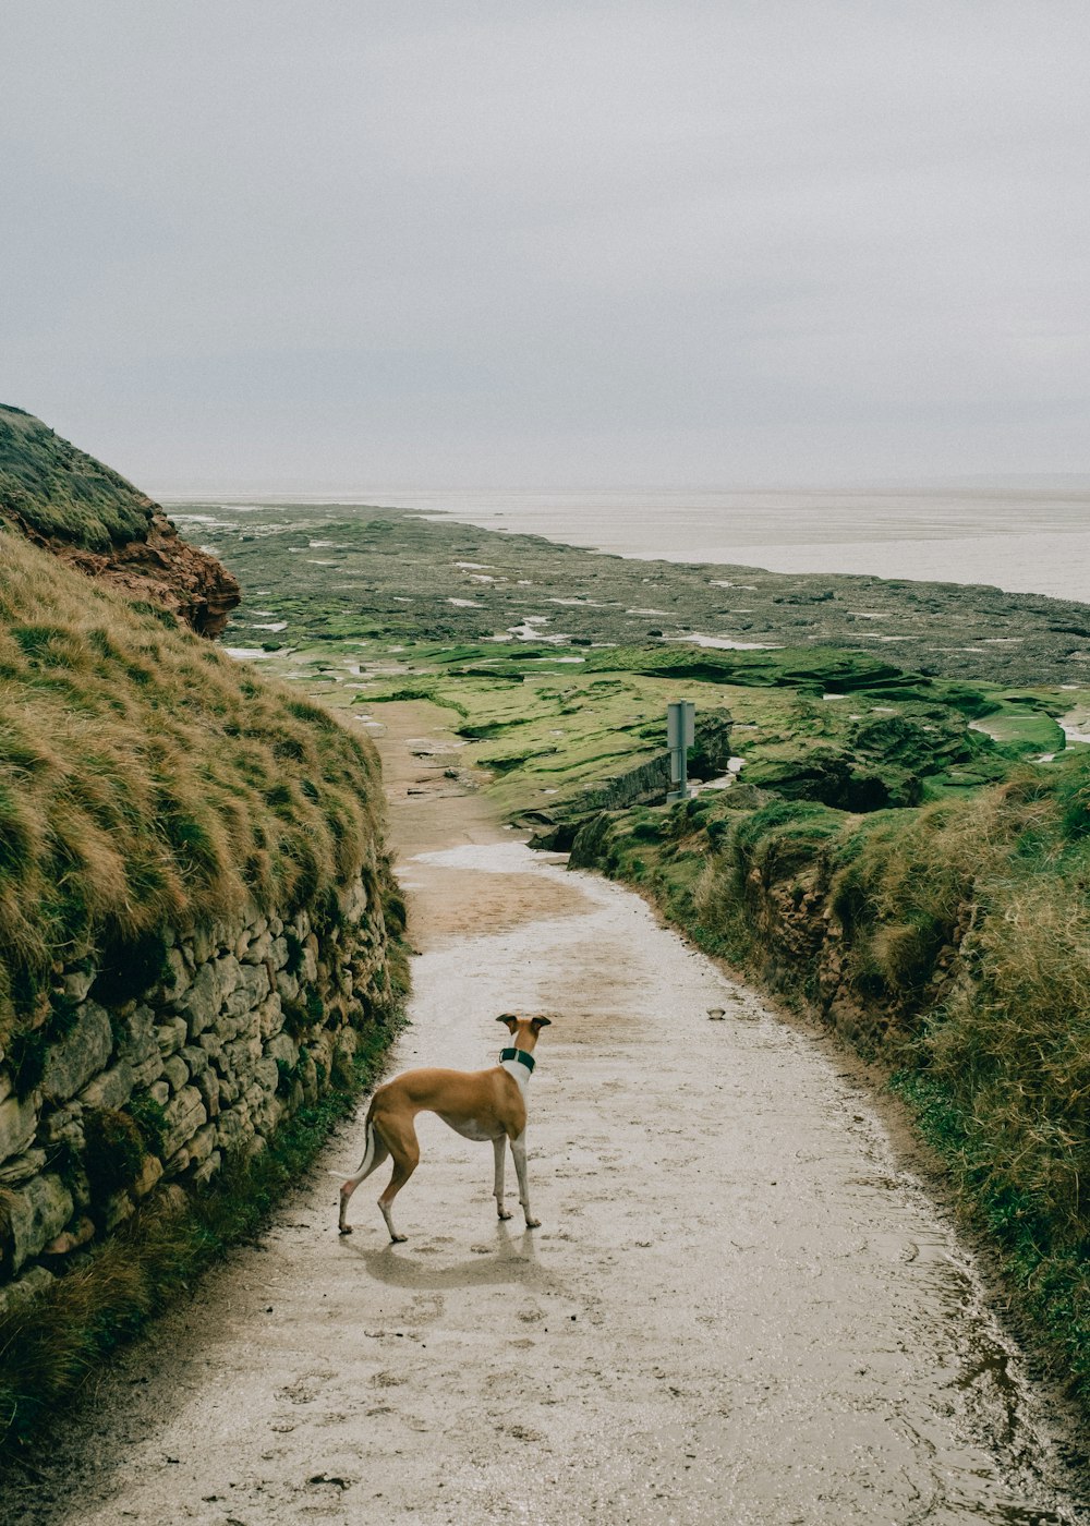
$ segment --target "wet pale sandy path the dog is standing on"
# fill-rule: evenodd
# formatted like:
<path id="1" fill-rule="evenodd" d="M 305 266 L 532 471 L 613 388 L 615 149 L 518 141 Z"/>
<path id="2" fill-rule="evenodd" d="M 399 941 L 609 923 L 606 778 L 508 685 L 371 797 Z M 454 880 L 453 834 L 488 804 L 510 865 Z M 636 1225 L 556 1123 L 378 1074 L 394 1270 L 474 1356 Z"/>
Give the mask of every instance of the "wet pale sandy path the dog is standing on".
<path id="1" fill-rule="evenodd" d="M 1082 1518 L 971 1262 L 832 1045 L 479 798 L 437 798 L 449 760 L 412 758 L 400 722 L 423 954 L 394 1068 L 479 1067 L 495 1013 L 556 1015 L 531 1082 L 542 1228 L 496 1222 L 492 1151 L 434 1119 L 408 1245 L 372 1181 L 337 1239 L 316 1175 L 116 1364 L 9 1518 Z"/>

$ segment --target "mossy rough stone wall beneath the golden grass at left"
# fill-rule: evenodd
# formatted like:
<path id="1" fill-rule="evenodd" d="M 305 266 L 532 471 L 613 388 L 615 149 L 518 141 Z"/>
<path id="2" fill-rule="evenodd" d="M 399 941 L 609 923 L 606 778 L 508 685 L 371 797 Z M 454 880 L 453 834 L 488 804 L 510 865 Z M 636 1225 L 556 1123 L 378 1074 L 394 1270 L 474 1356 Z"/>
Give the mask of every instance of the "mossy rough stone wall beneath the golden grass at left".
<path id="1" fill-rule="evenodd" d="M 328 1090 L 389 1001 L 377 887 L 365 867 L 321 911 L 168 931 L 130 1000 L 118 969 L 55 967 L 34 1064 L 26 1036 L 0 1051 L 0 1314 Z"/>

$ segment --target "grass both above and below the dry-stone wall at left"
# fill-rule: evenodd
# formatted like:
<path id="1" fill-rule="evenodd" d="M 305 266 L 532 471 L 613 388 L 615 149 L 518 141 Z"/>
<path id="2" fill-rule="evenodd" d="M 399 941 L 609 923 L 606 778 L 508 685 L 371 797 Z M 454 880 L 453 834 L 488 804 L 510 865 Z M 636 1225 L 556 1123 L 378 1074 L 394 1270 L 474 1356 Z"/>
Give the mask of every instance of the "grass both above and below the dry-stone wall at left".
<path id="1" fill-rule="evenodd" d="M 165 926 L 333 900 L 380 833 L 377 760 L 298 691 L 240 668 L 0 528 L 0 1080 L 31 1091 L 72 1004 L 60 963 L 147 984 Z M 394 929 L 403 913 L 380 870 Z M 394 951 L 392 1019 L 403 955 Z M 0 1424 L 18 1437 L 98 1354 L 253 1233 L 388 1042 L 266 1157 L 180 1209 L 148 1206 L 29 1311 L 0 1322 Z M 137 1123 L 154 1126 L 154 1108 Z M 0 1192 L 0 1212 L 2 1212 Z"/>

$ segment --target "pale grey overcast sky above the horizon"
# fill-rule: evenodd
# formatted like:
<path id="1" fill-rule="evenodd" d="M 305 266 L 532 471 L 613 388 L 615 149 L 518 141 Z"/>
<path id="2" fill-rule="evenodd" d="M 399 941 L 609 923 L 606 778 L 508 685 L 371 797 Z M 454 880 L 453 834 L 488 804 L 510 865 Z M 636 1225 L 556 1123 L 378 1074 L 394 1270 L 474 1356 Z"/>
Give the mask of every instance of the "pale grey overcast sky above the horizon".
<path id="1" fill-rule="evenodd" d="M 0 401 L 150 490 L 1085 472 L 1085 0 L 9 0 Z"/>

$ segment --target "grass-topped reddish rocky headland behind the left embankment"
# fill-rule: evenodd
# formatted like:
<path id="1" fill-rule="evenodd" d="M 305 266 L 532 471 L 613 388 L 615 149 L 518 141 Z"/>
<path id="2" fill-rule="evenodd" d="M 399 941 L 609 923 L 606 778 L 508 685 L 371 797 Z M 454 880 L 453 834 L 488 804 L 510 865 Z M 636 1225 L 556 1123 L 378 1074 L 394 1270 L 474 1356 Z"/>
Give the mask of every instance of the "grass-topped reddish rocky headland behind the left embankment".
<path id="1" fill-rule="evenodd" d="M 20 407 L 0 404 L 0 525 L 128 598 L 221 635 L 240 601 L 215 557 L 182 540 L 162 508 L 118 472 Z"/>

